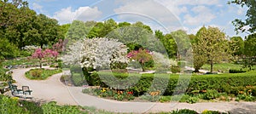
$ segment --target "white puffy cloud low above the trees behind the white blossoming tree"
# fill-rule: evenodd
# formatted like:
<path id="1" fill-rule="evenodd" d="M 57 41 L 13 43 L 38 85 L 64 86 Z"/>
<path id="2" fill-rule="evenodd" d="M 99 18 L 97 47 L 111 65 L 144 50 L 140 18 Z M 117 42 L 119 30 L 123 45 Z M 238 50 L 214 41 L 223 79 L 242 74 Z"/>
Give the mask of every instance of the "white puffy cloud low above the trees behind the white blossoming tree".
<path id="1" fill-rule="evenodd" d="M 97 20 L 101 16 L 102 12 L 97 7 L 79 7 L 73 11 L 71 7 L 61 9 L 55 12 L 53 18 L 59 20 L 61 24 L 70 23 L 73 20 Z"/>

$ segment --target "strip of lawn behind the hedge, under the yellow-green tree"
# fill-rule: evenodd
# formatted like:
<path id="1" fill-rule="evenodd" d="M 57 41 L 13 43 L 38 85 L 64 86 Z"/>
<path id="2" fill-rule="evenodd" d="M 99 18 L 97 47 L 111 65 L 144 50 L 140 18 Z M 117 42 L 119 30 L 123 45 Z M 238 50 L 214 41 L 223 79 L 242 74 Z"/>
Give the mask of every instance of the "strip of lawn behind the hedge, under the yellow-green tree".
<path id="1" fill-rule="evenodd" d="M 225 73 L 228 73 L 230 69 L 236 69 L 240 70 L 242 65 L 233 64 L 233 63 L 218 63 L 213 65 L 213 71 L 224 71 Z M 254 69 L 256 69 L 256 66 L 253 66 Z M 206 64 L 202 66 L 202 69 L 210 71 L 211 66 L 209 64 Z M 245 69 L 247 70 L 247 69 Z"/>

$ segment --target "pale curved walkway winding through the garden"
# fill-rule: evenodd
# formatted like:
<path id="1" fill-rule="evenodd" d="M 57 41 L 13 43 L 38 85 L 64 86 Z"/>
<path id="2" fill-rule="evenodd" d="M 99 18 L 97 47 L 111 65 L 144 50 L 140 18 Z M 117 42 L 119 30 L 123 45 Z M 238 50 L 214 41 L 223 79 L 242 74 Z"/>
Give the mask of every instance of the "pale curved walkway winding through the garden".
<path id="1" fill-rule="evenodd" d="M 46 67 L 47 68 L 47 67 Z M 205 103 L 151 103 L 151 102 L 120 102 L 115 100 L 100 99 L 95 96 L 83 94 L 81 87 L 68 87 L 60 81 L 62 73 L 49 77 L 44 81 L 27 79 L 24 74 L 26 69 L 15 69 L 13 78 L 21 87 L 28 85 L 32 89 L 33 100 L 50 101 L 55 100 L 61 105 L 86 105 L 95 106 L 98 109 L 118 112 L 159 112 L 173 111 L 177 109 L 191 109 L 198 112 L 204 110 L 230 111 L 232 113 L 254 113 L 256 102 L 205 102 Z"/>

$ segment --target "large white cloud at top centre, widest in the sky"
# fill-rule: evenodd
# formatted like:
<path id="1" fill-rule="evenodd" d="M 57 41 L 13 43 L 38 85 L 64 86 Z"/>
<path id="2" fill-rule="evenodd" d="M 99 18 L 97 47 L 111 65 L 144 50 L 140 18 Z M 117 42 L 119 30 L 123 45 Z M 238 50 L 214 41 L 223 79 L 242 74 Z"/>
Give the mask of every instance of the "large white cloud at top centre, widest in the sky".
<path id="1" fill-rule="evenodd" d="M 120 1 L 119 1 L 120 2 Z M 183 11 L 187 9 L 183 7 Z M 155 3 L 153 0 L 131 0 L 123 2 L 117 9 L 113 11 L 118 15 L 119 20 L 123 21 L 143 21 L 144 23 L 149 23 L 148 21 L 158 21 L 165 26 L 177 25 L 179 24 L 179 19 L 177 16 L 172 14 L 160 3 Z M 125 14 L 128 13 L 128 14 Z M 130 14 L 129 14 L 130 13 Z"/>

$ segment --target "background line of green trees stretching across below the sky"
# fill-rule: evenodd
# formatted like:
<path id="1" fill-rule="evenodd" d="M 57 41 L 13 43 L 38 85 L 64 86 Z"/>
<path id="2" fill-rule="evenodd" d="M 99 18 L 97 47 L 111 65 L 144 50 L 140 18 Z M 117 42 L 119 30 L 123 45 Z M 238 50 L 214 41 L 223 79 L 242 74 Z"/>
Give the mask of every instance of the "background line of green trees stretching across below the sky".
<path id="1" fill-rule="evenodd" d="M 120 22 L 109 19 L 103 22 L 74 20 L 71 24 L 59 25 L 58 21 L 44 14 L 37 14 L 28 8 L 28 3 L 22 0 L 0 1 L 0 57 L 1 59 L 15 57 L 27 45 L 43 48 L 52 46 L 59 39 L 66 38 L 72 43 L 84 37 L 109 37 L 125 43 L 128 51 L 147 48 L 151 51 L 166 52 L 169 58 L 179 60 L 179 56 L 188 53 L 193 48 L 195 71 L 204 64 L 218 63 L 230 57 L 235 60 L 240 56 L 252 58 L 255 56 L 255 1 L 231 1 L 241 6 L 247 6 L 247 20 L 234 20 L 236 31 L 250 32 L 244 38 L 228 38 L 223 31 L 216 27 L 203 26 L 194 34 L 177 30 L 164 34 L 162 31 L 153 31 L 143 22 Z M 244 30 L 244 26 L 250 26 Z M 189 39 L 189 40 L 187 40 Z M 129 41 L 129 42 L 127 42 Z M 135 41 L 135 42 L 132 42 Z M 220 49 L 218 49 L 220 48 Z M 155 49 L 155 50 L 154 50 Z M 225 55 L 227 54 L 227 55 Z M 255 58 L 255 57 L 254 57 Z M 252 61 L 252 60 L 251 60 Z"/>

